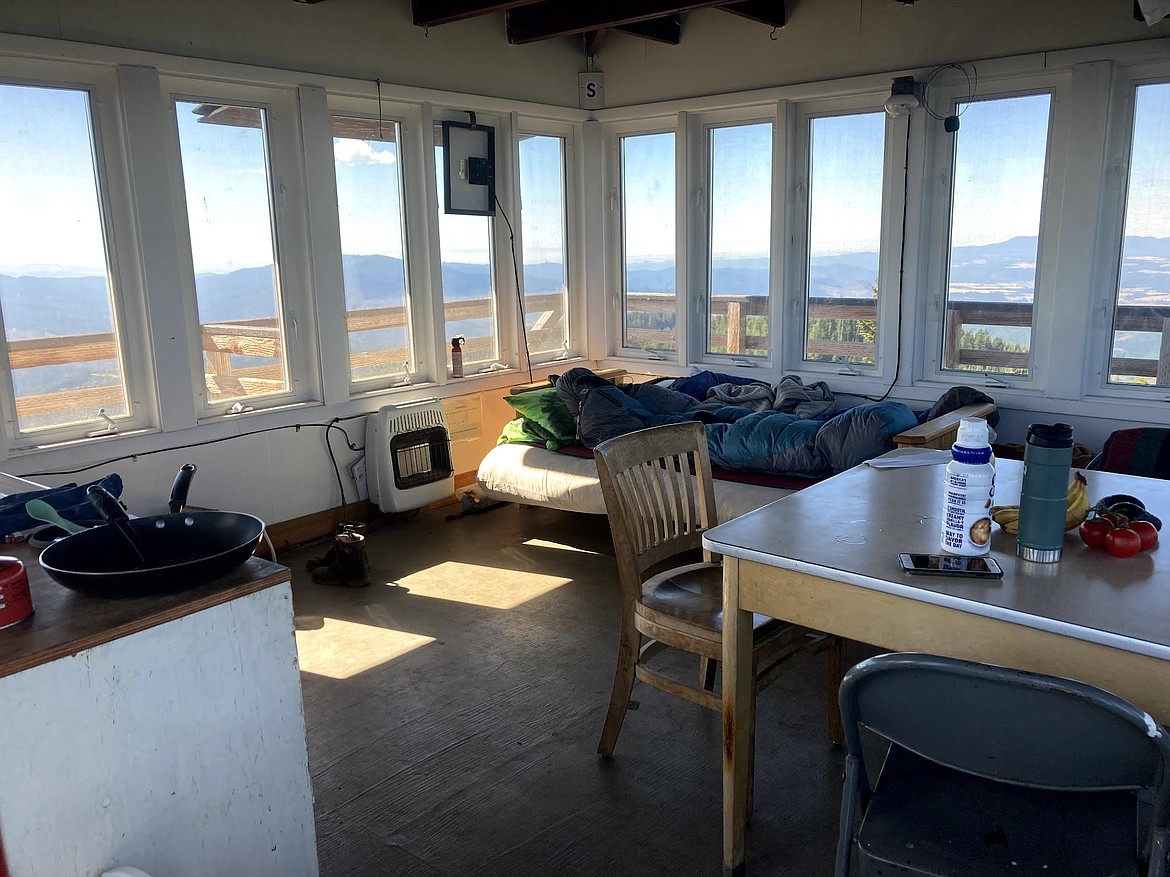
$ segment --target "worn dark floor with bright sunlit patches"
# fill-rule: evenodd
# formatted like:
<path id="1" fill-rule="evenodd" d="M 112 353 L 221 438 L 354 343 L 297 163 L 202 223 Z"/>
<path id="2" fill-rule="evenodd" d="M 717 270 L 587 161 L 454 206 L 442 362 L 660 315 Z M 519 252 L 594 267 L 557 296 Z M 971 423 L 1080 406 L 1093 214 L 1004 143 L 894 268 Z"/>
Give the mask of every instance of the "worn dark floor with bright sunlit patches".
<path id="1" fill-rule="evenodd" d="M 721 873 L 717 714 L 638 686 L 614 758 L 596 754 L 618 642 L 607 522 L 446 520 L 456 507 L 372 526 L 370 588 L 314 583 L 323 546 L 281 558 L 322 875 Z M 844 757 L 824 682 L 817 656 L 760 696 L 749 873 L 832 872 Z"/>

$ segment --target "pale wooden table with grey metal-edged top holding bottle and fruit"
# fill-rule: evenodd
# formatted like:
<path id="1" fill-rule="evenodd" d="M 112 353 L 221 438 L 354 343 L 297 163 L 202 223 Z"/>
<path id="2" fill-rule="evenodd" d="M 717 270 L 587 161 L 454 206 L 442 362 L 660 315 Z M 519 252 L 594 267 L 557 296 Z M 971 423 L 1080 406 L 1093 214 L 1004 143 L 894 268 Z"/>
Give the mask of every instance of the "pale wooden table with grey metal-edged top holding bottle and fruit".
<path id="1" fill-rule="evenodd" d="M 892 451 L 899 455 L 902 451 Z M 911 451 L 913 453 L 913 451 Z M 999 461 L 996 502 L 1018 502 L 1023 463 Z M 1170 522 L 1170 482 L 1087 471 L 1089 499 L 1140 497 Z M 1004 578 L 911 575 L 900 552 L 938 553 L 942 465 L 862 464 L 713 527 L 723 566 L 723 864 L 744 872 L 751 624 L 758 612 L 896 651 L 1081 679 L 1170 723 L 1170 547 L 1114 558 L 1066 536 L 1058 564 L 1016 557 Z M 1170 532 L 1170 531 L 1168 531 Z"/>

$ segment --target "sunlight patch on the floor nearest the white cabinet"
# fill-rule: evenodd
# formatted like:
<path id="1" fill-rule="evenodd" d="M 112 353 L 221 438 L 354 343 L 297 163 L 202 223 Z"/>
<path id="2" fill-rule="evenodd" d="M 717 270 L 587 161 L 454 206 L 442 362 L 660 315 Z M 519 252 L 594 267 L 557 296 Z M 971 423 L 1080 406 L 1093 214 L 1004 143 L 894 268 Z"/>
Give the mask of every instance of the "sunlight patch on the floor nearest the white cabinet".
<path id="1" fill-rule="evenodd" d="M 296 650 L 304 672 L 347 679 L 434 642 L 405 630 L 325 619 L 316 630 L 296 631 Z"/>

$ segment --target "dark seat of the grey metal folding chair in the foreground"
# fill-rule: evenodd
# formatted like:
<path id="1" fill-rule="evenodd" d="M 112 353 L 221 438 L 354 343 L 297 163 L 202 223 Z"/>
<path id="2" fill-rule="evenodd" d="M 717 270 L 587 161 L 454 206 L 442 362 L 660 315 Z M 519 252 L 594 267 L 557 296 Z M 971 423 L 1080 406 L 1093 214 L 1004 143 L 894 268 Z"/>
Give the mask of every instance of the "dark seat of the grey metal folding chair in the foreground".
<path id="1" fill-rule="evenodd" d="M 858 834 L 861 873 L 1138 875 L 1129 792 L 986 780 L 892 745 Z M 913 838 L 913 843 L 910 842 Z"/>

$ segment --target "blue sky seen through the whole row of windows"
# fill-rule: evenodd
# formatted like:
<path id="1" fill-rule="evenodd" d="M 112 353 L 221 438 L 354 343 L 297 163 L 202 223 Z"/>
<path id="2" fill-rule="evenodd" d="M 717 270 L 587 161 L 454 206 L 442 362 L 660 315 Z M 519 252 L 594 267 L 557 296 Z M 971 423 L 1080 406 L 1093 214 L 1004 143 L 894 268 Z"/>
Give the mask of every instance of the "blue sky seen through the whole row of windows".
<path id="1" fill-rule="evenodd" d="M 1018 234 L 1035 234 L 1039 210 L 1037 180 L 1044 167 L 1039 132 L 1047 130 L 1046 96 L 1002 102 L 976 101 L 962 116 L 957 134 L 956 244 L 989 243 Z M 266 264 L 271 240 L 263 141 L 257 129 L 199 125 L 180 105 L 188 182 L 198 180 L 192 242 L 200 270 Z M 1138 90 L 1136 117 L 1141 137 L 1134 144 L 1134 177 L 1128 203 L 1130 235 L 1170 236 L 1170 84 Z M 917 120 L 917 119 L 916 119 Z M 815 143 L 814 254 L 875 249 L 874 193 L 880 193 L 881 163 L 876 126 L 881 113 L 863 113 L 838 124 L 840 136 Z M 929 120 L 929 124 L 941 124 Z M 847 131 L 855 125 L 855 130 Z M 826 130 L 827 130 L 826 125 Z M 0 270 L 51 267 L 56 272 L 102 272 L 102 223 L 90 158 L 91 137 L 84 95 L 68 89 L 0 85 L 0 203 L 19 207 L 0 215 Z M 713 241 L 721 255 L 768 253 L 768 178 L 763 150 L 769 125 L 725 129 L 716 133 L 718 195 Z M 1019 132 L 1035 132 L 1021 137 Z M 195 138 L 202 146 L 194 151 Z M 560 251 L 562 242 L 536 229 L 559 227 L 560 205 L 532 193 L 555 164 L 548 152 L 553 138 L 522 143 L 522 185 L 528 215 L 528 260 Z M 738 141 L 737 141 L 738 140 Z M 625 180 L 629 261 L 674 253 L 674 136 L 627 140 Z M 1032 144 L 1031 146 L 1028 144 Z M 753 160 L 752 157 L 758 160 Z M 337 152 L 338 185 L 362 192 L 360 206 L 342 216 L 346 249 L 400 256 L 397 232 L 398 193 L 387 185 L 397 173 L 394 144 Z M 978 168 L 977 172 L 973 168 Z M 534 185 L 529 185 L 532 182 Z M 372 193 L 380 194 L 372 194 Z M 821 207 L 821 205 L 824 207 Z M 820 213 L 823 210 L 823 213 Z M 511 216 L 514 223 L 518 217 Z M 466 220 L 466 221 L 464 221 Z M 824 220 L 824 221 L 821 221 Z M 486 257 L 488 220 L 443 216 L 440 236 L 447 258 Z M 44 271 L 50 272 L 50 271 Z"/>

